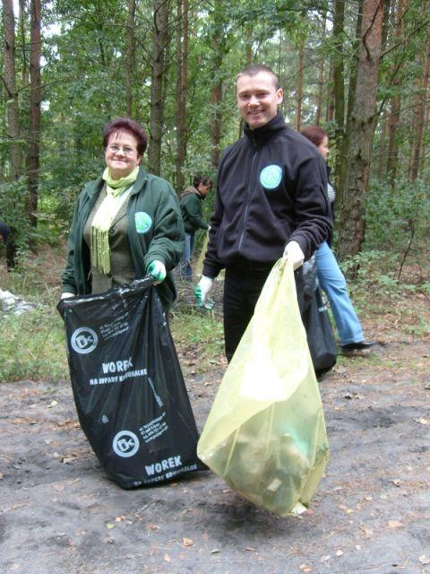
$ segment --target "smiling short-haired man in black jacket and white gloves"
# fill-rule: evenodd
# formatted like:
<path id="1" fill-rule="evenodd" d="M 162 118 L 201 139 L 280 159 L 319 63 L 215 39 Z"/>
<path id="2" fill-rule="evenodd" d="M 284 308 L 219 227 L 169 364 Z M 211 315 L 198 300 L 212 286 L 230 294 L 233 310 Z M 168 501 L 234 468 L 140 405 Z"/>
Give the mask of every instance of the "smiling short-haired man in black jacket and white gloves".
<path id="1" fill-rule="evenodd" d="M 236 101 L 245 135 L 219 161 L 209 245 L 195 290 L 204 306 L 213 279 L 226 269 L 228 361 L 273 264 L 283 256 L 292 261 L 300 295 L 300 266 L 331 231 L 323 157 L 287 126 L 278 112 L 282 100 L 283 90 L 270 68 L 250 65 L 237 74 Z"/>

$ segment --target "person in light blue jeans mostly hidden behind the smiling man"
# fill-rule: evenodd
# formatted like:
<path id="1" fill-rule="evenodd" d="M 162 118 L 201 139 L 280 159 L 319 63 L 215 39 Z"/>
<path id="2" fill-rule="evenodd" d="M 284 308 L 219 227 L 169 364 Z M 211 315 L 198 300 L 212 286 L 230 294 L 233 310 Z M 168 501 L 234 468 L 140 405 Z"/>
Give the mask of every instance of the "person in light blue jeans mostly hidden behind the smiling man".
<path id="1" fill-rule="evenodd" d="M 324 160 L 329 153 L 329 136 L 320 126 L 307 126 L 301 131 L 302 135 L 314 143 Z M 327 174 L 330 168 L 327 165 Z M 332 206 L 335 199 L 335 190 L 329 180 L 327 195 Z M 345 354 L 361 351 L 372 347 L 375 343 L 366 341 L 363 327 L 358 320 L 354 306 L 349 299 L 347 282 L 340 271 L 340 266 L 331 251 L 331 236 L 315 251 L 318 281 L 330 301 L 336 328 L 340 336 L 340 346 Z"/>

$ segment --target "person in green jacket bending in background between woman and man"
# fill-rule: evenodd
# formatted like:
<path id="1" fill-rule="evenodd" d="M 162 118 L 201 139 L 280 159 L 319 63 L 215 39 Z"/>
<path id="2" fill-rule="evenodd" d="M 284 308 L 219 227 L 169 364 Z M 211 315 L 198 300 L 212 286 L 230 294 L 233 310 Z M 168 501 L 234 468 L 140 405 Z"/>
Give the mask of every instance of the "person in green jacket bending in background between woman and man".
<path id="1" fill-rule="evenodd" d="M 209 229 L 209 224 L 202 218 L 202 202 L 211 188 L 210 178 L 196 176 L 193 178 L 193 185 L 185 188 L 179 203 L 185 228 L 184 252 L 179 264 L 179 274 L 189 281 L 193 279 L 191 260 L 194 251 L 195 232 Z"/>

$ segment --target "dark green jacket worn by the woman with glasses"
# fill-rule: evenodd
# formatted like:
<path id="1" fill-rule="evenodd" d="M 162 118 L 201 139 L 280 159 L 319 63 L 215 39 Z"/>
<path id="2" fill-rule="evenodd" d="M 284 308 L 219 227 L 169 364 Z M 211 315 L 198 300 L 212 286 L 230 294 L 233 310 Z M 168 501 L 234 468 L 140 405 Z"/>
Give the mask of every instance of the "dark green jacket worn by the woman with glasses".
<path id="1" fill-rule="evenodd" d="M 77 295 L 91 292 L 90 249 L 83 240 L 83 229 L 104 186 L 100 177 L 90 181 L 82 190 L 73 213 L 72 227 L 67 243 L 67 264 L 62 283 L 63 292 Z M 135 214 L 150 216 L 149 229 L 136 230 Z M 165 309 L 176 298 L 175 283 L 171 270 L 178 264 L 184 248 L 184 224 L 182 222 L 176 193 L 162 178 L 140 168 L 127 204 L 127 230 L 136 278 L 141 279 L 151 261 L 162 261 L 168 276 L 156 289 Z"/>

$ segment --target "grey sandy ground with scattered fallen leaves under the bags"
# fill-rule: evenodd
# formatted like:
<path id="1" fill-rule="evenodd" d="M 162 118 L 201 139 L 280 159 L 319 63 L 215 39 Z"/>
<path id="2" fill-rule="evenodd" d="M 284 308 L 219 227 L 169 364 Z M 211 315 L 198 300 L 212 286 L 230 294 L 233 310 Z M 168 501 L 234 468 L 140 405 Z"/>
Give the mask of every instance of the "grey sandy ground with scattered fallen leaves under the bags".
<path id="1" fill-rule="evenodd" d="M 430 324 L 428 300 L 412 293 L 407 307 Z M 211 472 L 122 490 L 82 433 L 68 381 L 2 385 L 0 571 L 430 573 L 430 337 L 393 311 L 366 313 L 382 344 L 320 381 L 331 459 L 299 517 L 257 509 Z M 225 361 L 197 375 L 193 352 L 180 360 L 201 430 Z"/>

